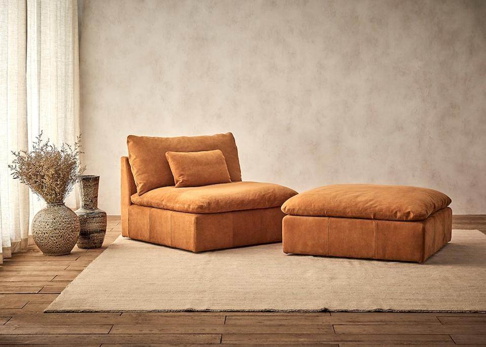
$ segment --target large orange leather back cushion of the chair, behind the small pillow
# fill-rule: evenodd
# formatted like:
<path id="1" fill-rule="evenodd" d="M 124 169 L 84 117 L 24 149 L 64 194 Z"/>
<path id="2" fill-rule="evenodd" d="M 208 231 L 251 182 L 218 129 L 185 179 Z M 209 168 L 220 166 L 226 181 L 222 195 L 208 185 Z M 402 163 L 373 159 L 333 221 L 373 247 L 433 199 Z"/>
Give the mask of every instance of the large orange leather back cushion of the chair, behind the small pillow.
<path id="1" fill-rule="evenodd" d="M 238 149 L 232 133 L 212 136 L 149 137 L 130 135 L 127 138 L 128 156 L 139 195 L 174 185 L 165 153 L 197 152 L 220 149 L 225 155 L 231 180 L 241 181 Z"/>

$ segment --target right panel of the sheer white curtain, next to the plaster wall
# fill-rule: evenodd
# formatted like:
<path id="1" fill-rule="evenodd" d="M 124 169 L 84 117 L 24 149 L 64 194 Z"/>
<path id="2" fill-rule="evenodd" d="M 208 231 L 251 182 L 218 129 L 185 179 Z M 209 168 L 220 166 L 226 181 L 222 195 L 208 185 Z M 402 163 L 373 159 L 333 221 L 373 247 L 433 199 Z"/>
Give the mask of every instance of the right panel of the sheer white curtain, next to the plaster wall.
<path id="1" fill-rule="evenodd" d="M 76 0 L 27 0 L 28 143 L 43 131 L 60 145 L 79 129 L 78 5 Z M 76 193 L 76 190 L 74 190 Z M 44 203 L 30 196 L 30 221 Z M 66 205 L 77 206 L 76 194 Z"/>

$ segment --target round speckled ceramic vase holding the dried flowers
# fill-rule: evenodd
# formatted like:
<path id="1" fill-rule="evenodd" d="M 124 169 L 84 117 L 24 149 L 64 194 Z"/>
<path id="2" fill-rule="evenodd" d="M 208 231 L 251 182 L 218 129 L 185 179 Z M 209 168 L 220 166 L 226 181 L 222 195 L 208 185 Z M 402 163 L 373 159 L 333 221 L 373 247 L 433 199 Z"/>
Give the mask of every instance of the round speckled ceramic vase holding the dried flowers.
<path id="1" fill-rule="evenodd" d="M 32 220 L 32 238 L 45 255 L 71 253 L 80 233 L 78 216 L 61 204 L 47 204 Z"/>

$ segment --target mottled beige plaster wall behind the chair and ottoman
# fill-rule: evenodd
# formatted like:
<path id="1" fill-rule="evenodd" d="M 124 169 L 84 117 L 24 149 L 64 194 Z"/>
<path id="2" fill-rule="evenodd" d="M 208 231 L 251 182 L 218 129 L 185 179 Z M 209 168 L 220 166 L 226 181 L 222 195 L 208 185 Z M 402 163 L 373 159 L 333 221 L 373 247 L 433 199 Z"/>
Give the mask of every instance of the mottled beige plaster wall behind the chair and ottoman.
<path id="1" fill-rule="evenodd" d="M 486 213 L 486 2 L 82 5 L 84 158 L 109 214 L 128 134 L 228 131 L 244 180 L 427 186 Z"/>

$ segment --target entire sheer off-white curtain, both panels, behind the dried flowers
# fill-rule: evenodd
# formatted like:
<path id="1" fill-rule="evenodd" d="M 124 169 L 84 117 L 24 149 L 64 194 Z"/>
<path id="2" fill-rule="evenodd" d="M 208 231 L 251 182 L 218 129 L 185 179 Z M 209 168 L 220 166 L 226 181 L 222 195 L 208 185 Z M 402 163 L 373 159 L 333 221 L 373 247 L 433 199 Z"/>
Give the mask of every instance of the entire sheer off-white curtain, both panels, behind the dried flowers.
<path id="1" fill-rule="evenodd" d="M 28 246 L 43 203 L 13 180 L 11 150 L 29 149 L 42 130 L 60 145 L 79 135 L 76 0 L 0 0 L 0 263 Z M 71 194 L 66 204 L 76 207 Z"/>

